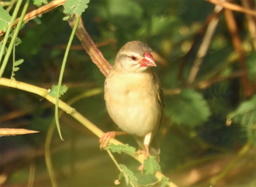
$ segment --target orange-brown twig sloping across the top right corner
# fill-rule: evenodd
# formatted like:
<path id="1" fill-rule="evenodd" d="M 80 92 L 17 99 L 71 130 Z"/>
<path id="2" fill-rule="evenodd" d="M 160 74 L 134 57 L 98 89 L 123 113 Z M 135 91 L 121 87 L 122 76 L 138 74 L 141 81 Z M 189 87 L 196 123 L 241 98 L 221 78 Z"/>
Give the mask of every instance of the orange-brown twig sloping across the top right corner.
<path id="1" fill-rule="evenodd" d="M 242 12 L 242 13 L 253 15 L 256 17 L 255 10 L 245 9 L 243 7 L 240 7 L 239 5 L 234 4 L 234 3 L 230 3 L 230 2 L 226 2 L 226 1 L 223 2 L 223 1 L 219 1 L 219 0 L 205 0 L 205 1 L 208 1 L 208 2 L 216 4 L 216 5 L 220 5 L 221 7 L 225 8 L 225 9 Z M 244 0 L 242 0 L 242 1 L 244 1 Z"/>

